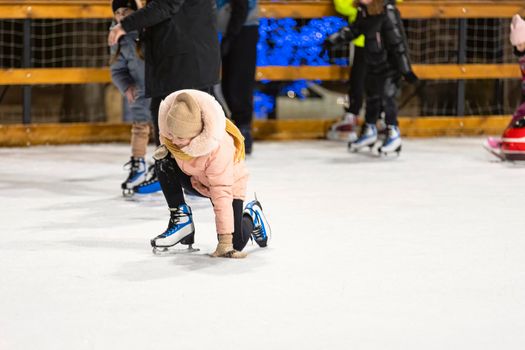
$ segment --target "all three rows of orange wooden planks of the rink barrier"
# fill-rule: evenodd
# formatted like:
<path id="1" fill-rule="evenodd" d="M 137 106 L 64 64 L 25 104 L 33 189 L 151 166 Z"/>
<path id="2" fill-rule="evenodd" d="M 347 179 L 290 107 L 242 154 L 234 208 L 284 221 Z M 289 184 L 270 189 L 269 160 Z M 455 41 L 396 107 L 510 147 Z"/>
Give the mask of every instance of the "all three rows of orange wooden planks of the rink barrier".
<path id="1" fill-rule="evenodd" d="M 0 0 L 0 18 L 109 18 L 108 0 Z M 404 18 L 510 18 L 525 15 L 525 1 L 507 0 L 404 0 L 399 4 Z M 316 18 L 335 15 L 332 1 L 262 1 L 261 15 L 268 18 Z M 422 79 L 504 79 L 519 78 L 515 64 L 414 65 Z M 259 67 L 257 79 L 346 80 L 348 68 L 340 66 Z M 0 85 L 108 83 L 108 68 L 0 69 Z M 256 121 L 257 139 L 323 138 L 333 120 Z M 498 134 L 508 123 L 507 116 L 400 118 L 406 136 Z M 129 141 L 127 124 L 43 124 L 0 125 L 0 145 Z"/>

